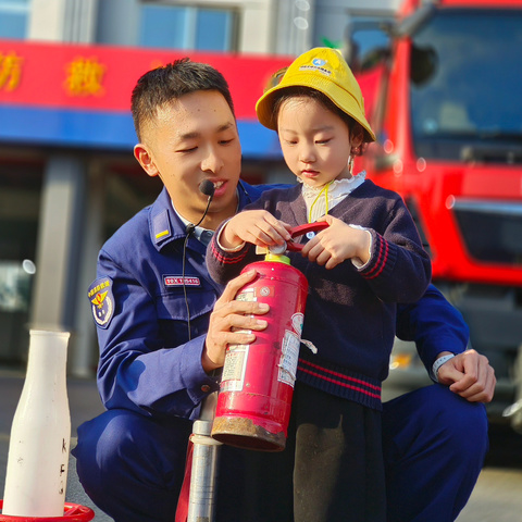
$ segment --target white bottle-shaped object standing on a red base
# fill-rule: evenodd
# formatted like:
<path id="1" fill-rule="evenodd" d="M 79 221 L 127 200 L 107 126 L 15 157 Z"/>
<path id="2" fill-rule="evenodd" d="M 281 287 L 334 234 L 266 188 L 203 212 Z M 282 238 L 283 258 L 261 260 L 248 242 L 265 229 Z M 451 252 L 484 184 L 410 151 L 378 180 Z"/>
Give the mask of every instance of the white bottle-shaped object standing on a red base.
<path id="1" fill-rule="evenodd" d="M 32 330 L 11 427 L 2 514 L 63 517 L 71 442 L 66 332 Z"/>

